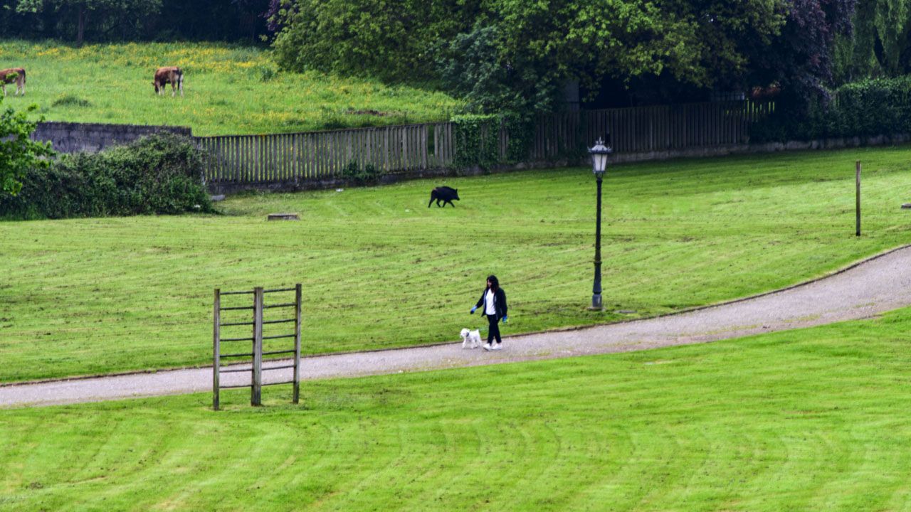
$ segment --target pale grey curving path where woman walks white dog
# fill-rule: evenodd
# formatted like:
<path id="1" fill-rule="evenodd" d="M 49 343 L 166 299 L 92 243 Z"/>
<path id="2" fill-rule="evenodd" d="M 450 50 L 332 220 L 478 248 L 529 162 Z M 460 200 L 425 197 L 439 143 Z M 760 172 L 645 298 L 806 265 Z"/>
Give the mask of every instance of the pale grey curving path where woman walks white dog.
<path id="1" fill-rule="evenodd" d="M 302 361 L 302 379 L 394 374 L 705 343 L 867 318 L 908 305 L 911 305 L 911 246 L 887 252 L 819 281 L 696 311 L 586 329 L 510 336 L 504 339 L 501 352 L 464 350 L 461 343 L 450 343 L 309 357 Z M 263 375 L 264 382 L 291 378 L 290 370 Z M 223 374 L 221 382 L 242 384 L 244 376 Z M 14 384 L 0 387 L 0 406 L 198 393 L 211 391 L 211 383 L 211 368 L 203 368 Z"/>

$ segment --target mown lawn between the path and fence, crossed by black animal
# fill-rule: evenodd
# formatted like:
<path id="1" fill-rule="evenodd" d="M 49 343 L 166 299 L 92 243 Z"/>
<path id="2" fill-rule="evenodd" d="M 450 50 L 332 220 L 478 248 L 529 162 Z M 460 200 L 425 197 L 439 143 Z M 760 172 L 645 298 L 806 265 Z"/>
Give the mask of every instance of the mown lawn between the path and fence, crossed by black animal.
<path id="1" fill-rule="evenodd" d="M 483 327 L 468 309 L 489 273 L 508 294 L 507 335 L 773 290 L 911 242 L 911 215 L 899 210 L 911 194 L 909 155 L 860 149 L 611 169 L 603 313 L 585 309 L 588 169 L 446 179 L 462 200 L 445 209 L 427 208 L 439 180 L 231 198 L 215 217 L 0 222 L 0 381 L 210 364 L 217 287 L 302 282 L 304 353 L 456 341 L 463 327 Z M 855 159 L 865 162 L 859 239 Z M 302 220 L 267 222 L 273 211 Z M 232 300 L 223 305 L 242 299 Z M 227 313 L 237 312 L 224 322 L 241 318 Z M 249 333 L 232 329 L 223 335 Z"/>

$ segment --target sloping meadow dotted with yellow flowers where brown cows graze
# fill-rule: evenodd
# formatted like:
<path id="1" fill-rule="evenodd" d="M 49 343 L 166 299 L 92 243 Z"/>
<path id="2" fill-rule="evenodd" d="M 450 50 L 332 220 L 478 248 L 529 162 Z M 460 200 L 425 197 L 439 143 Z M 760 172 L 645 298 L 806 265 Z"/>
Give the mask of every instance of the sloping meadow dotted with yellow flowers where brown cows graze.
<path id="1" fill-rule="evenodd" d="M 155 96 L 155 69 L 179 66 L 184 97 Z M 180 125 L 203 135 L 445 120 L 453 98 L 319 73 L 278 73 L 268 52 L 215 43 L 87 45 L 0 41 L 0 67 L 26 68 L 26 97 L 48 120 Z M 7 92 L 15 92 L 15 87 Z"/>

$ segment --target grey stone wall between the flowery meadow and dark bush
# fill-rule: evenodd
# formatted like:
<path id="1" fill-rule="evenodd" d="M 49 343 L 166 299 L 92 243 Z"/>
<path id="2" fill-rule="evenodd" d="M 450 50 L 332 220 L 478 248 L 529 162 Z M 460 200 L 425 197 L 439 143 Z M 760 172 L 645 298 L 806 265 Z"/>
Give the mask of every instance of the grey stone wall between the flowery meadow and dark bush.
<path id="1" fill-rule="evenodd" d="M 38 123 L 33 140 L 50 141 L 61 153 L 79 151 L 95 152 L 108 146 L 128 144 L 137 138 L 169 131 L 192 137 L 192 130 L 186 127 L 165 127 L 148 125 L 107 125 L 99 123 Z"/>

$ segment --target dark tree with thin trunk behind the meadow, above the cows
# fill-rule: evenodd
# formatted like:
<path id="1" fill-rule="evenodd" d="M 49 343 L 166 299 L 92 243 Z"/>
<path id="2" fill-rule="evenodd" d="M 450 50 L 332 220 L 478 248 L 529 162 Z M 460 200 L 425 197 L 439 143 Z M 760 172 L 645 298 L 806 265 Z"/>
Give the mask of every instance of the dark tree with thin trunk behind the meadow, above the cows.
<path id="1" fill-rule="evenodd" d="M 73 20 L 77 46 L 82 46 L 89 23 L 106 31 L 124 24 L 136 25 L 160 9 L 161 0 L 19 0 L 16 5 L 20 13 L 51 10 Z"/>

